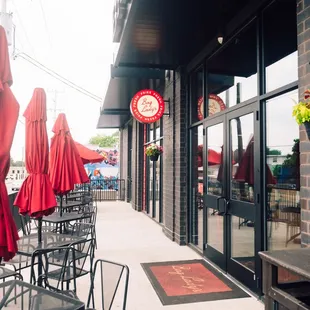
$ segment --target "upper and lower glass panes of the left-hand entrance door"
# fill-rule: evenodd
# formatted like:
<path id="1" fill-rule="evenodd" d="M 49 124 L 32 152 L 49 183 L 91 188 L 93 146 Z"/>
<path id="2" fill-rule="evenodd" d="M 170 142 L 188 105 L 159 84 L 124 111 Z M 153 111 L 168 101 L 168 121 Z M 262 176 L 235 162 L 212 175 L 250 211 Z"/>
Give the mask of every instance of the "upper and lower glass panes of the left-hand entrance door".
<path id="1" fill-rule="evenodd" d="M 209 195 L 222 196 L 223 193 L 223 165 L 222 148 L 224 142 L 223 123 L 207 128 L 207 193 Z M 224 219 L 223 214 L 217 212 L 216 206 L 207 206 L 207 243 L 219 252 L 223 253 Z"/>

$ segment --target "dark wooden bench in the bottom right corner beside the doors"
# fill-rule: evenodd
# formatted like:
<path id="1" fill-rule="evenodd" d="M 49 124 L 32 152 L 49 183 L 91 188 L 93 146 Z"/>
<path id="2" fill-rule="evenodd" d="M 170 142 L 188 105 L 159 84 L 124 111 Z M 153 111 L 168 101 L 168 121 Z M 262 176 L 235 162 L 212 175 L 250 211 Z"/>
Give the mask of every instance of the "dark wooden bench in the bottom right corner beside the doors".
<path id="1" fill-rule="evenodd" d="M 263 261 L 265 309 L 310 309 L 310 249 L 259 253 Z M 281 279 L 283 269 L 291 273 Z"/>

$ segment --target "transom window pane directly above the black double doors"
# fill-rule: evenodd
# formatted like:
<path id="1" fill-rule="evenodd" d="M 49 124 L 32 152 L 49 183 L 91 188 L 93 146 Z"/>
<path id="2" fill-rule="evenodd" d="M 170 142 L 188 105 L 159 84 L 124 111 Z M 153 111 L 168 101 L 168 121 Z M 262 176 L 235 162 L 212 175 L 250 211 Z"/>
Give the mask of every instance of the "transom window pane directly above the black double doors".
<path id="1" fill-rule="evenodd" d="M 256 29 L 256 22 L 253 22 L 208 61 L 209 96 L 221 98 L 225 107 L 257 96 Z"/>

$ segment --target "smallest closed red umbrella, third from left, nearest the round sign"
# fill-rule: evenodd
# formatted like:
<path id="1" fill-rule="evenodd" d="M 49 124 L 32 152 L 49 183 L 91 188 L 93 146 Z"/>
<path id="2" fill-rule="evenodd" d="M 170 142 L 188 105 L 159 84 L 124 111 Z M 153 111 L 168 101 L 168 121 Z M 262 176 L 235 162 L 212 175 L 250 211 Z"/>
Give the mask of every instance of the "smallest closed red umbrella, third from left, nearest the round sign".
<path id="1" fill-rule="evenodd" d="M 89 182 L 82 159 L 71 137 L 65 114 L 60 113 L 53 127 L 49 175 L 55 194 L 65 195 L 75 184 Z"/>

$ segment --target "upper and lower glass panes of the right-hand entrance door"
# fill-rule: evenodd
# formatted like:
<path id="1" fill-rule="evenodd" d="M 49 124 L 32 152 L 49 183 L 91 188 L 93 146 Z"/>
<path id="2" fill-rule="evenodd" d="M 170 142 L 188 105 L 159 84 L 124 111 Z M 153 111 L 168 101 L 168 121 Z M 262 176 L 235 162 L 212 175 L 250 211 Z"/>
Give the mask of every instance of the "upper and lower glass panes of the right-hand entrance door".
<path id="1" fill-rule="evenodd" d="M 254 202 L 254 120 L 253 113 L 230 121 L 231 164 L 230 197 Z M 254 270 L 254 223 L 247 218 L 231 216 L 231 256 L 238 263 Z"/>

